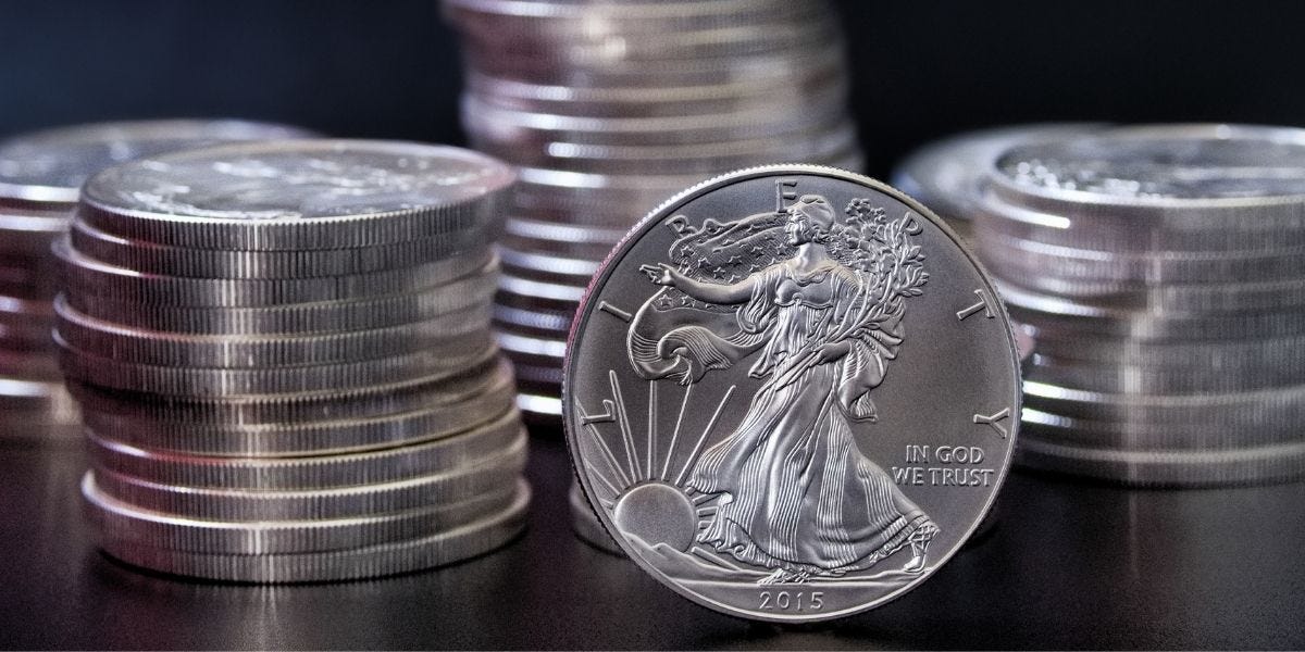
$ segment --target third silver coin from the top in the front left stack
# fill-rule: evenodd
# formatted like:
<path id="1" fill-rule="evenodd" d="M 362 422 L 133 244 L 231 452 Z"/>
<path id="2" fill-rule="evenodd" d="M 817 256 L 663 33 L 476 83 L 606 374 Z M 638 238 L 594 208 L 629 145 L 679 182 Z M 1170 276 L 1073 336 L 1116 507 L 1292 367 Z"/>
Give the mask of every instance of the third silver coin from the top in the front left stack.
<path id="1" fill-rule="evenodd" d="M 479 244 L 458 256 L 415 267 L 292 279 L 202 279 L 141 274 L 89 258 L 72 249 L 67 237 L 55 244 L 54 252 L 64 262 L 64 282 L 70 296 L 86 295 L 168 306 L 253 308 L 414 292 L 466 275 L 488 278 L 493 265 L 492 253 L 483 236 L 478 240 Z"/>

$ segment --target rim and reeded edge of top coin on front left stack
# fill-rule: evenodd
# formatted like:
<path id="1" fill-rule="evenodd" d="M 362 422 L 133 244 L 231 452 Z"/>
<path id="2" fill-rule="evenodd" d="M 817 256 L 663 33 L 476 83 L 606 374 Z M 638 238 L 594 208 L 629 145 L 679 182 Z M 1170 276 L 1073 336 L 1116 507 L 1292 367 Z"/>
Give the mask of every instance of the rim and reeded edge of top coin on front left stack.
<path id="1" fill-rule="evenodd" d="M 102 171 L 86 181 L 77 216 L 106 233 L 174 246 L 224 250 L 343 249 L 452 236 L 467 230 L 482 228 L 484 224 L 493 224 L 495 215 L 499 214 L 499 202 L 515 181 L 513 170 L 492 156 L 458 147 L 402 141 L 264 141 L 162 154 L 151 156 L 149 162 L 166 163 L 176 158 L 197 155 L 244 155 L 279 153 L 281 150 L 300 154 L 369 150 L 395 155 L 440 155 L 475 163 L 484 172 L 475 179 L 480 193 L 472 197 L 445 201 L 432 198 L 428 205 L 423 206 L 361 215 L 251 220 L 172 215 L 114 206 L 97 197 L 97 184 L 107 183 L 108 175 L 116 173 L 123 167 L 119 166 Z M 144 163 L 128 163 L 128 166 L 132 164 Z"/>

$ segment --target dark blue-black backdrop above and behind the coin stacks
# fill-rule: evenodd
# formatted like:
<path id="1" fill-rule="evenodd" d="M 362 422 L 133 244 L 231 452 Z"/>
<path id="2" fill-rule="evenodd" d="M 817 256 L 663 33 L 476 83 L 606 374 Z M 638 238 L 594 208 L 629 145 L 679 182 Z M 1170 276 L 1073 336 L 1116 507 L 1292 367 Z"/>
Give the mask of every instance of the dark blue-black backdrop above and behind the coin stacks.
<path id="1" fill-rule="evenodd" d="M 1301 3 L 835 5 L 876 176 L 930 138 L 1005 123 L 1305 123 Z M 461 143 L 459 85 L 437 0 L 0 0 L 0 136 L 239 116 Z"/>

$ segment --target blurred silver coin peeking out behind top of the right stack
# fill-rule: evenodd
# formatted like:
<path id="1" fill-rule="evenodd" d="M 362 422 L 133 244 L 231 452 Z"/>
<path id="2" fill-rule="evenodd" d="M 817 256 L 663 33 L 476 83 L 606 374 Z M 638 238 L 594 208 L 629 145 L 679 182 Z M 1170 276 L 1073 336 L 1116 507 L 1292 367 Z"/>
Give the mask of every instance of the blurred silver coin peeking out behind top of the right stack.
<path id="1" fill-rule="evenodd" d="M 997 158 L 1017 145 L 1073 138 L 1101 123 L 1048 123 L 966 132 L 911 153 L 893 171 L 893 185 L 944 219 L 968 222 L 983 196 L 983 183 Z M 949 222 L 950 226 L 950 222 Z"/>

